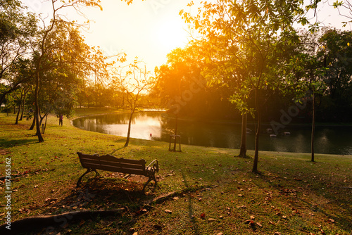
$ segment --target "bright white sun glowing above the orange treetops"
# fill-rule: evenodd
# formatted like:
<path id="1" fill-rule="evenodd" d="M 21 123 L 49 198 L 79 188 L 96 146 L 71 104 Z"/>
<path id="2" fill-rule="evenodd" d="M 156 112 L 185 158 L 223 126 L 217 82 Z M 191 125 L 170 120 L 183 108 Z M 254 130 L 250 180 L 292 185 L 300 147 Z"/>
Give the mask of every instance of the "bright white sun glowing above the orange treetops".
<path id="1" fill-rule="evenodd" d="M 160 22 L 154 35 L 156 43 L 168 51 L 184 47 L 188 42 L 188 34 L 184 28 L 185 24 L 182 20 L 172 19 Z"/>

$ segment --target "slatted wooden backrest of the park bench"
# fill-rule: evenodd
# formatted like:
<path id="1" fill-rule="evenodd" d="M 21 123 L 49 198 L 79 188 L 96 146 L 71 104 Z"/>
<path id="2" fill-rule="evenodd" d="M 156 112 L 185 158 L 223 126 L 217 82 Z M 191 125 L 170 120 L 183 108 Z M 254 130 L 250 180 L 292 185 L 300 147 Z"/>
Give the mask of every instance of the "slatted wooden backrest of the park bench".
<path id="1" fill-rule="evenodd" d="M 113 155 L 98 154 L 89 155 L 77 153 L 82 167 L 98 170 L 108 170 L 111 172 L 121 172 L 125 174 L 146 174 L 146 160 L 133 160 L 125 158 L 115 158 Z"/>

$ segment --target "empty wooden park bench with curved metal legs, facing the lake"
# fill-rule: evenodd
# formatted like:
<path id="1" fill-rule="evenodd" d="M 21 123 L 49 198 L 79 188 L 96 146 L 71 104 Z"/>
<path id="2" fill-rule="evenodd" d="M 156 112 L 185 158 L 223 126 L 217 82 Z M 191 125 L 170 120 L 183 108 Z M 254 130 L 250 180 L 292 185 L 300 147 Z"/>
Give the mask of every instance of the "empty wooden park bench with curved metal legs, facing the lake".
<path id="1" fill-rule="evenodd" d="M 148 177 L 148 181 L 144 184 L 143 191 L 146 185 L 153 180 L 156 185 L 156 172 L 159 171 L 158 160 L 153 160 L 148 166 L 146 166 L 146 160 L 132 160 L 125 158 L 115 158 L 113 155 L 102 155 L 98 154 L 88 155 L 77 152 L 82 167 L 87 168 L 87 171 L 82 174 L 78 179 L 77 186 L 80 186 L 82 177 L 89 172 L 96 172 L 96 170 L 107 170 L 110 172 L 121 172 L 125 174 L 139 174 Z"/>

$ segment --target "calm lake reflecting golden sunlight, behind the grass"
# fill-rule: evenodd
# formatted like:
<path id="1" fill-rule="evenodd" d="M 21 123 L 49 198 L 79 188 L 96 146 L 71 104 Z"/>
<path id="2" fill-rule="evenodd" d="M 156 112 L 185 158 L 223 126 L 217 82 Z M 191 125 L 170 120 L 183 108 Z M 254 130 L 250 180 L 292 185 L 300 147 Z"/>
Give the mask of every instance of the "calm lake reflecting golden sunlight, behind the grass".
<path id="1" fill-rule="evenodd" d="M 130 114 L 96 115 L 73 120 L 73 125 L 91 132 L 127 136 Z M 248 125 L 253 134 L 247 134 L 247 148 L 254 149 L 254 125 Z M 263 125 L 262 129 L 270 128 Z M 143 112 L 133 115 L 131 138 L 168 142 L 175 129 L 175 119 L 163 117 L 161 112 Z M 260 136 L 260 151 L 310 153 L 310 126 L 288 126 L 290 135 Z M 315 153 L 352 155 L 352 127 L 315 127 Z M 241 124 L 230 122 L 206 122 L 181 120 L 177 122 L 177 134 L 182 144 L 239 148 Z"/>

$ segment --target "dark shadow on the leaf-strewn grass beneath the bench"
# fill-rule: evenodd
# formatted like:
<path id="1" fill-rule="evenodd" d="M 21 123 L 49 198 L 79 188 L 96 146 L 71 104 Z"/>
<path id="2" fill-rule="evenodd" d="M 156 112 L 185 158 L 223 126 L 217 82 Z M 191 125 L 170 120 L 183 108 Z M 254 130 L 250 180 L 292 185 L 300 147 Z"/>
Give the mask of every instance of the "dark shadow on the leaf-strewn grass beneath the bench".
<path id="1" fill-rule="evenodd" d="M 151 200 L 153 196 L 142 192 L 142 182 L 132 182 L 121 178 L 95 177 L 87 182 L 82 182 L 81 186 L 75 188 L 65 195 L 61 200 L 56 198 L 46 198 L 44 215 L 58 215 L 54 218 L 55 223 L 48 227 L 35 229 L 32 232 L 37 234 L 58 234 L 68 229 L 73 234 L 80 234 L 80 228 L 91 227 L 91 224 L 105 224 L 111 222 L 113 229 L 125 231 L 132 227 L 139 215 L 143 215 L 144 203 Z M 119 210 L 122 210 L 119 212 Z M 84 217 L 73 217 L 68 212 L 91 211 L 87 220 Z M 115 212 L 118 211 L 118 212 Z M 108 215 L 99 215 L 99 212 L 111 212 Z M 106 213 L 105 213 L 106 214 Z M 116 223 L 116 221 L 118 221 Z M 113 225 L 112 225 L 113 224 Z M 75 231 L 77 230 L 77 231 Z M 96 229 L 99 231 L 100 229 Z"/>

